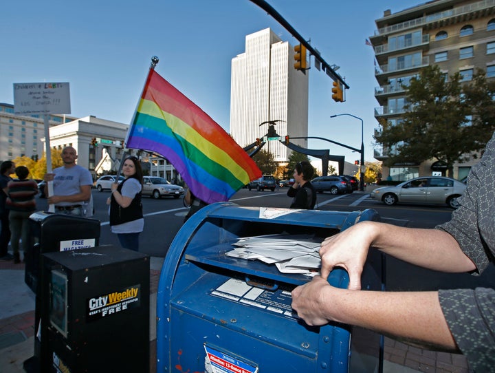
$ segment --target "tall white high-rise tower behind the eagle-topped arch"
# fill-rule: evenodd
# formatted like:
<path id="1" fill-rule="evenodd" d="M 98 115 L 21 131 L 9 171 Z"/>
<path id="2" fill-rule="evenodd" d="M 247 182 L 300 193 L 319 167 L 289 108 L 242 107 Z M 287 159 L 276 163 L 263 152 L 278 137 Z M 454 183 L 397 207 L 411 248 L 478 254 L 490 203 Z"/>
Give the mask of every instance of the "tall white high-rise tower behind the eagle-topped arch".
<path id="1" fill-rule="evenodd" d="M 245 38 L 245 52 L 232 58 L 230 93 L 230 134 L 245 147 L 263 138 L 267 120 L 276 122 L 279 136 L 307 147 L 308 74 L 294 69 L 294 49 L 267 28 Z M 287 162 L 289 148 L 268 141 L 263 147 L 276 162 Z"/>

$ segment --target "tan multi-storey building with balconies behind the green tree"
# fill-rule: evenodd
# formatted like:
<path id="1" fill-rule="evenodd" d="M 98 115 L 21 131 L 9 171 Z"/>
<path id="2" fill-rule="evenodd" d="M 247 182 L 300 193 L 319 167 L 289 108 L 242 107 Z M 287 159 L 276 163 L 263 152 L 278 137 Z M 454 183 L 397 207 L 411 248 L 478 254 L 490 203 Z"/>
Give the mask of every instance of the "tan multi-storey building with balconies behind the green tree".
<path id="1" fill-rule="evenodd" d="M 407 86 L 423 67 L 439 65 L 447 76 L 460 72 L 463 81 L 470 81 L 477 68 L 495 78 L 495 0 L 428 1 L 394 14 L 386 10 L 375 23 L 377 30 L 369 38 L 376 58 L 375 98 L 380 103 L 375 118 L 386 120 L 387 126 L 400 125 L 406 105 L 402 85 Z M 374 156 L 386 160 L 391 151 L 379 145 Z M 383 177 L 408 180 L 432 175 L 435 161 L 384 167 Z M 454 164 L 454 178 L 465 178 L 476 162 Z"/>

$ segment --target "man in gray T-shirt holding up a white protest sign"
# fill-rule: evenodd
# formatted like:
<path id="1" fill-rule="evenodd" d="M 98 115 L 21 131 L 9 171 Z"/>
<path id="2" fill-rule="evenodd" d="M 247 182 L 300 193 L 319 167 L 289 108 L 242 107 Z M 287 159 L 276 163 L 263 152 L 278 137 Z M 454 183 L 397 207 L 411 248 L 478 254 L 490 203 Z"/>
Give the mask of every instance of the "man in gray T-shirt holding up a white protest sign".
<path id="1" fill-rule="evenodd" d="M 45 193 L 48 195 L 48 182 L 53 181 L 54 195 L 48 195 L 48 204 L 55 204 L 55 213 L 91 216 L 92 213 L 85 210 L 91 204 L 93 178 L 87 169 L 76 164 L 76 159 L 77 153 L 73 147 L 62 150 L 64 165 L 54 169 L 53 173 L 45 173 Z"/>

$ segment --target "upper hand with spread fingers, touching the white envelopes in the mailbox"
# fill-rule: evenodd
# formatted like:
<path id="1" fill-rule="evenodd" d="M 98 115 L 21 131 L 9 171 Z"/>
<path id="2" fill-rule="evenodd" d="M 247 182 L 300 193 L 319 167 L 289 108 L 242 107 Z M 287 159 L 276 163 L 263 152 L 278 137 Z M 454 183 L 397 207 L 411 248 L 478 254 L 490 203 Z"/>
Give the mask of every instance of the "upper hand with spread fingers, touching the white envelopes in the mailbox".
<path id="1" fill-rule="evenodd" d="M 361 274 L 373 243 L 373 225 L 362 222 L 327 237 L 320 247 L 320 275 L 327 279 L 331 270 L 342 267 L 349 274 L 349 289 L 361 289 Z"/>

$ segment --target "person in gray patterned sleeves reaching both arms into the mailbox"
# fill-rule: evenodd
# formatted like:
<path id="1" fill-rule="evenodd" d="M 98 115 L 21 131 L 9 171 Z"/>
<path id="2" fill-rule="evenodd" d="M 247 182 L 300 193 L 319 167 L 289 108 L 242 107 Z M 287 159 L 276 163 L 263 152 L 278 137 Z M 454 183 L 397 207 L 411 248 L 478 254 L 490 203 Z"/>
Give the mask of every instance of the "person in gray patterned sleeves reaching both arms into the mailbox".
<path id="1" fill-rule="evenodd" d="M 370 247 L 450 273 L 483 271 L 495 255 L 495 134 L 473 167 L 461 207 L 436 229 L 360 222 L 325 239 L 320 276 L 292 291 L 292 307 L 308 325 L 338 321 L 401 337 L 426 348 L 462 352 L 476 372 L 495 370 L 495 290 L 359 291 Z M 330 286 L 340 266 L 349 289 Z"/>

